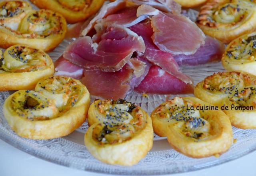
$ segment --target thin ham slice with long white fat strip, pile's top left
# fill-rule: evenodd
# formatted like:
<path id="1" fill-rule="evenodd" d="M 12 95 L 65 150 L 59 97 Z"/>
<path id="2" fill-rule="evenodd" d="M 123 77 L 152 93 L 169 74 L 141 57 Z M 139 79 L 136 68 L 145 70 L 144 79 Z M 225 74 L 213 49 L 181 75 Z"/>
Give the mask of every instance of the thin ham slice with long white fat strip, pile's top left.
<path id="1" fill-rule="evenodd" d="M 88 32 L 94 27 L 94 25 L 97 23 L 97 20 L 100 20 L 110 14 L 114 14 L 115 12 L 118 12 L 119 10 L 126 7 L 126 1 L 125 0 L 116 0 L 114 2 L 104 4 L 98 14 L 90 20 L 90 22 L 86 22 L 86 28 L 82 30 L 81 34 L 82 36 L 86 36 Z"/>

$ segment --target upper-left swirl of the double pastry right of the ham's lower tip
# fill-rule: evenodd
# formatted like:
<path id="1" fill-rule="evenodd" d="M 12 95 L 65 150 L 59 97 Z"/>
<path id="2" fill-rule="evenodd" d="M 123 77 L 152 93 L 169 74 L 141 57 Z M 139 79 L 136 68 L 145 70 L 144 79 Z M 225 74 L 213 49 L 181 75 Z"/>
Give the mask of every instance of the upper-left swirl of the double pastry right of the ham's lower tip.
<path id="1" fill-rule="evenodd" d="M 255 85 L 256 76 L 242 72 L 218 72 L 199 82 L 194 95 L 215 106 L 222 106 L 225 98 L 245 86 Z"/>

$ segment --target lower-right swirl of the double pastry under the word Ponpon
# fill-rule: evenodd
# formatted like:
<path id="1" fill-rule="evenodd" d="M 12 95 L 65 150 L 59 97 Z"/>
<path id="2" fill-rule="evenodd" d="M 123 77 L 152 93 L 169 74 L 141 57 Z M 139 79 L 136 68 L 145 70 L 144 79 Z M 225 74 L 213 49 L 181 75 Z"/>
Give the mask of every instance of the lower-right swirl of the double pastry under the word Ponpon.
<path id="1" fill-rule="evenodd" d="M 225 99 L 228 109 L 224 112 L 229 116 L 231 124 L 237 128 L 256 128 L 256 86 L 244 87 Z"/>

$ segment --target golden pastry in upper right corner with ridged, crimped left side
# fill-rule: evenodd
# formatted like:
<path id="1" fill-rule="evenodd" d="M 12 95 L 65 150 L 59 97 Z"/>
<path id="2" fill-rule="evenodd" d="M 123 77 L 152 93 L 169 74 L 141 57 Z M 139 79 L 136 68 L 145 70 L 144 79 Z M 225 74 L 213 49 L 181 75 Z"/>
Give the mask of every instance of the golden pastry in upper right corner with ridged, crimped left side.
<path id="1" fill-rule="evenodd" d="M 243 0 L 212 0 L 201 7 L 197 24 L 226 44 L 256 28 L 256 6 Z"/>

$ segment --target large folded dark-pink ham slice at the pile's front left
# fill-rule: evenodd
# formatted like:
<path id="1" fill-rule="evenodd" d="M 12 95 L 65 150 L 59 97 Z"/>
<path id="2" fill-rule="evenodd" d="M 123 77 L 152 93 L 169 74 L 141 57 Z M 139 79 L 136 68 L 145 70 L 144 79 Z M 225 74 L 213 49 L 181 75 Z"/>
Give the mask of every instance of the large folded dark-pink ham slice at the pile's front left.
<path id="1" fill-rule="evenodd" d="M 101 33 L 102 34 L 102 33 Z M 115 72 L 131 58 L 133 52 L 144 52 L 142 37 L 120 25 L 108 26 L 100 35 L 100 42 L 84 36 L 72 42 L 63 56 L 84 70 Z"/>

